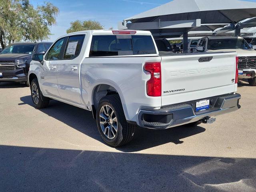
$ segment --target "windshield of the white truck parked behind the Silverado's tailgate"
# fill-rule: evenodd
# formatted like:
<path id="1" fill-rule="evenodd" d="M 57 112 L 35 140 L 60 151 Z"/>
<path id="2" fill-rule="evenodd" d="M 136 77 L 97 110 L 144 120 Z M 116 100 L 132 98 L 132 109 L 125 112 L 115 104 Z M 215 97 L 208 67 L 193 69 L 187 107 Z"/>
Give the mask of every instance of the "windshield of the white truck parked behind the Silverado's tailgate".
<path id="1" fill-rule="evenodd" d="M 219 49 L 250 49 L 244 39 L 209 39 L 208 50 Z"/>

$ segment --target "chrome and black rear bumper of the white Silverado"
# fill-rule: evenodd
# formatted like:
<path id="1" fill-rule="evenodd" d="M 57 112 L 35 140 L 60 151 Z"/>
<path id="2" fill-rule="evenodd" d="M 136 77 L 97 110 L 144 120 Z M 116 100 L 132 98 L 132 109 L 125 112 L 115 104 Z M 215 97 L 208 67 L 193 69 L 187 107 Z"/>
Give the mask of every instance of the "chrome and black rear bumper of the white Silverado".
<path id="1" fill-rule="evenodd" d="M 143 109 L 138 114 L 138 125 L 151 129 L 167 129 L 196 122 L 205 117 L 214 117 L 238 110 L 240 98 L 240 94 L 218 96 L 212 100 L 207 98 L 212 102 L 210 109 L 201 112 L 195 112 L 193 105 L 198 100 L 167 106 L 158 110 Z"/>

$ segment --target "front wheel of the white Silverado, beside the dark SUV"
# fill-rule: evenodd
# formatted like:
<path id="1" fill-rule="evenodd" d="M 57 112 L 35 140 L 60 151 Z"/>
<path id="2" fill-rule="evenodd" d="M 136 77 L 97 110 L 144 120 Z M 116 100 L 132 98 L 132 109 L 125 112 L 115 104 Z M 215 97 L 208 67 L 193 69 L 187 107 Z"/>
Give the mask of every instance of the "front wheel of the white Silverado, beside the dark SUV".
<path id="1" fill-rule="evenodd" d="M 40 90 L 38 80 L 33 79 L 30 85 L 31 97 L 35 108 L 42 109 L 46 108 L 50 102 L 50 99 L 43 96 Z"/>

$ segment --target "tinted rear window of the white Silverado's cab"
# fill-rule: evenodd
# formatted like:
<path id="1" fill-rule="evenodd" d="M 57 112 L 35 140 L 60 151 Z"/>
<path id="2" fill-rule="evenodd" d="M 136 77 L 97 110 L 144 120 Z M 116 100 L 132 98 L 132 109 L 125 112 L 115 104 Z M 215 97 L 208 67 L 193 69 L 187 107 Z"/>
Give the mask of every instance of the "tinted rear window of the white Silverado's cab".
<path id="1" fill-rule="evenodd" d="M 93 36 L 90 57 L 156 54 L 151 36 Z"/>

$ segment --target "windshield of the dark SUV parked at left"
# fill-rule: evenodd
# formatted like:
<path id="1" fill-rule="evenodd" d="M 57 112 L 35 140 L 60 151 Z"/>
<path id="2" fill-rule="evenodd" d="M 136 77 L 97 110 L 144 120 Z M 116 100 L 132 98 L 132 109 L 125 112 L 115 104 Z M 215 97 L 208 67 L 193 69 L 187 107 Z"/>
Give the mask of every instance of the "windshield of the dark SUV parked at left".
<path id="1" fill-rule="evenodd" d="M 12 44 L 8 45 L 1 54 L 16 53 L 16 54 L 32 54 L 35 45 L 33 44 Z"/>

